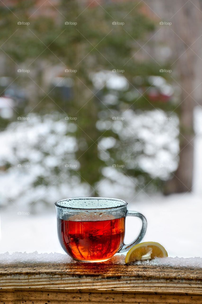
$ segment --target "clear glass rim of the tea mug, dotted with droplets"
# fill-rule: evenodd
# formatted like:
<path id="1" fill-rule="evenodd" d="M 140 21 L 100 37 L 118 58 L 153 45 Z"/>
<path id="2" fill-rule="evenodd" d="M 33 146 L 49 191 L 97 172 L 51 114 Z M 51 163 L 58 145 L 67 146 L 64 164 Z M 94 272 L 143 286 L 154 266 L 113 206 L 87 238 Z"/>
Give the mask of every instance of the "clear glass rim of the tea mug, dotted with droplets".
<path id="1" fill-rule="evenodd" d="M 64 202 L 64 201 L 68 201 L 70 199 L 109 199 L 109 200 L 113 200 L 113 201 L 119 201 L 122 202 L 122 205 L 120 206 L 116 206 L 116 207 L 108 207 L 108 208 L 76 208 L 76 207 L 65 207 L 65 206 L 60 206 L 59 203 L 60 202 Z M 108 209 L 116 209 L 116 208 L 120 208 L 120 207 L 127 207 L 128 203 L 125 202 L 123 199 L 114 199 L 111 197 L 73 197 L 73 198 L 68 198 L 68 199 L 61 199 L 57 202 L 55 202 L 55 206 L 59 207 L 59 208 L 64 208 L 64 209 L 74 209 L 74 210 L 108 210 Z"/>

